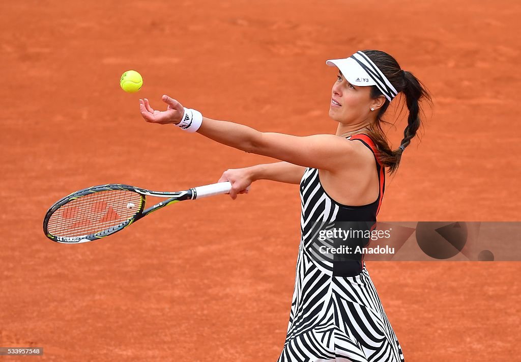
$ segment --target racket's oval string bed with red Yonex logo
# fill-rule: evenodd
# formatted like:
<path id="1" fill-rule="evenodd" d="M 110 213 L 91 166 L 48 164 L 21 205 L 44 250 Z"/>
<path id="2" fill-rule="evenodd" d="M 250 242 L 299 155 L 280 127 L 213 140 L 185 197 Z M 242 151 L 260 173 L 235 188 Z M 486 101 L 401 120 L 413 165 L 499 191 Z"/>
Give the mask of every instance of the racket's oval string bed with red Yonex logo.
<path id="1" fill-rule="evenodd" d="M 77 237 L 107 230 L 131 219 L 143 197 L 128 190 L 108 190 L 81 196 L 58 208 L 47 230 L 54 236 Z"/>

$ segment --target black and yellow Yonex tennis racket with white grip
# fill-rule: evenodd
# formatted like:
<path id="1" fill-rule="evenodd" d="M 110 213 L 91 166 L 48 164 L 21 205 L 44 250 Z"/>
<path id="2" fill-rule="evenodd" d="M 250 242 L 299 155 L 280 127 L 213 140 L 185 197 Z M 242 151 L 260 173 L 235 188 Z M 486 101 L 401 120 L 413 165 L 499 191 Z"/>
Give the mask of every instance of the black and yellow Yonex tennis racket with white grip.
<path id="1" fill-rule="evenodd" d="M 56 202 L 45 214 L 43 231 L 53 242 L 79 244 L 117 233 L 172 203 L 230 192 L 230 182 L 159 192 L 120 184 L 89 187 Z M 167 198 L 144 209 L 145 197 Z"/>

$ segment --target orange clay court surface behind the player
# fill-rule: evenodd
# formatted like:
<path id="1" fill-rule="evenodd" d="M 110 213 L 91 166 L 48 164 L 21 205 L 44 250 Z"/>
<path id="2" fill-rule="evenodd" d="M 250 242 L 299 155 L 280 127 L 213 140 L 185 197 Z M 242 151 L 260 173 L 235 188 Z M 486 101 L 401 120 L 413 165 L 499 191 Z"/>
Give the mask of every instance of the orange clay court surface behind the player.
<path id="1" fill-rule="evenodd" d="M 147 124 L 139 98 L 158 106 L 167 93 L 262 131 L 334 133 L 326 59 L 386 51 L 434 106 L 378 220 L 519 221 L 520 15 L 506 0 L 2 2 L 0 346 L 56 361 L 278 358 L 297 186 L 183 202 L 92 243 L 43 235 L 47 208 L 78 189 L 183 190 L 272 161 Z M 128 69 L 144 78 L 139 93 L 119 88 Z M 393 103 L 396 148 L 406 109 Z M 518 262 L 367 269 L 406 361 L 521 358 Z"/>

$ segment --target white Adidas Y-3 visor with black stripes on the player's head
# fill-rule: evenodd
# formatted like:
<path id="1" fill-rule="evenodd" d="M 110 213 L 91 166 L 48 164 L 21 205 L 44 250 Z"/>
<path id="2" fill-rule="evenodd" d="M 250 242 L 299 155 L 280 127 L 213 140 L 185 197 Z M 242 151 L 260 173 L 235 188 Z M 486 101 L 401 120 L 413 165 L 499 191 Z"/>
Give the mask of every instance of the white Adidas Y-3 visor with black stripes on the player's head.
<path id="1" fill-rule="evenodd" d="M 336 66 L 353 86 L 376 86 L 391 102 L 398 94 L 391 82 L 363 52 L 358 51 L 349 58 L 329 59 L 330 67 Z"/>

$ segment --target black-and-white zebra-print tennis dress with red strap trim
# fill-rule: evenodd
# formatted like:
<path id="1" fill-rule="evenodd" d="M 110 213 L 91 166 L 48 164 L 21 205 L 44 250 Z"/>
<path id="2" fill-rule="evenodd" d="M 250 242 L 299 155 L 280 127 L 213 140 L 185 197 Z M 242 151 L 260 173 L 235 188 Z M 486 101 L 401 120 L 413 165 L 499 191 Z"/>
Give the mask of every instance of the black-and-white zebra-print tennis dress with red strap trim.
<path id="1" fill-rule="evenodd" d="M 336 221 L 373 221 L 384 191 L 384 168 L 373 141 L 359 140 L 375 154 L 380 192 L 368 205 L 339 204 L 326 193 L 316 168 L 307 168 L 300 184 L 302 201 L 301 243 L 286 343 L 278 362 L 398 362 L 402 349 L 365 267 L 357 261 L 317 258 L 312 235 Z"/>

